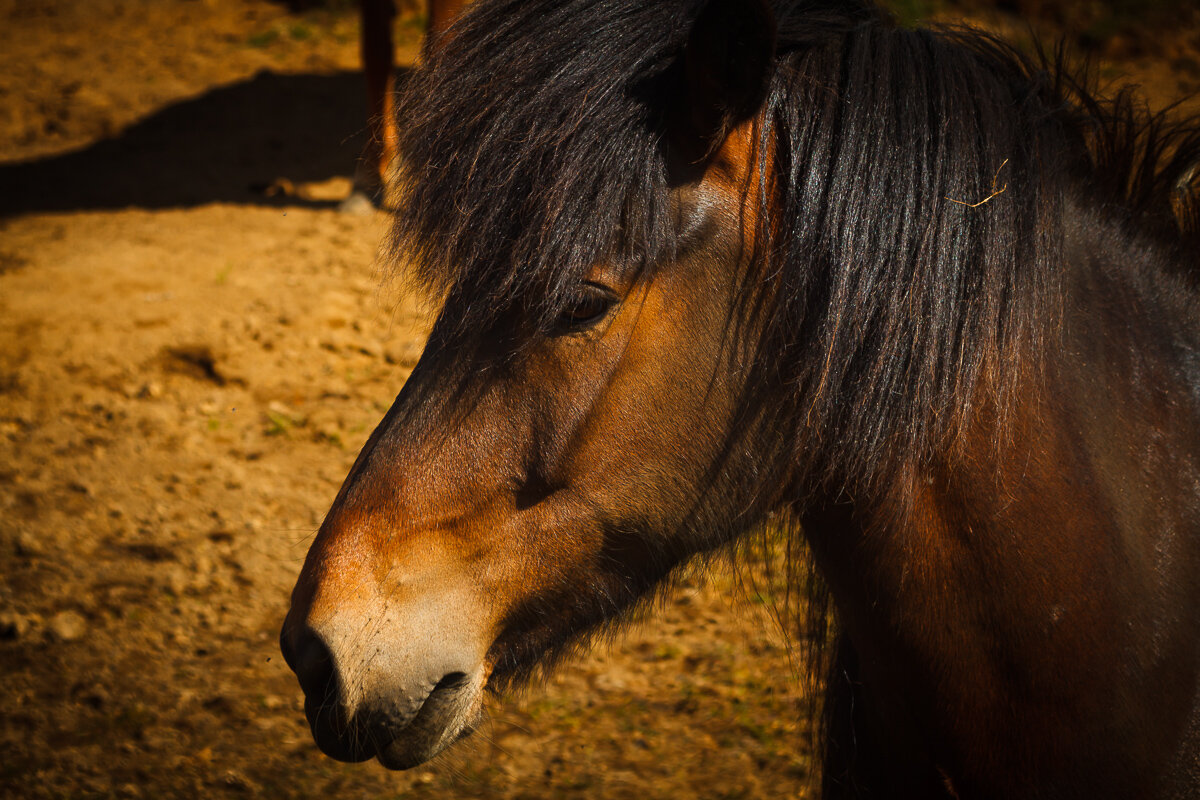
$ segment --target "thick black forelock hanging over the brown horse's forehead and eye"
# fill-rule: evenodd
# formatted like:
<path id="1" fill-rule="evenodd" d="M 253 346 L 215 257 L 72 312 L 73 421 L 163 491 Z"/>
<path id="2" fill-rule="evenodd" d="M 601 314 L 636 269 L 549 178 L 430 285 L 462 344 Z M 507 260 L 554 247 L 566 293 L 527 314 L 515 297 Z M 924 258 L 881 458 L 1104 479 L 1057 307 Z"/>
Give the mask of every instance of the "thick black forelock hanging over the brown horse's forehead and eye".
<path id="1" fill-rule="evenodd" d="M 490 330 L 515 305 L 545 320 L 622 245 L 670 249 L 646 92 L 689 16 L 642 0 L 475 4 L 412 77 L 394 243 L 428 289 L 474 299 L 462 330 Z"/>

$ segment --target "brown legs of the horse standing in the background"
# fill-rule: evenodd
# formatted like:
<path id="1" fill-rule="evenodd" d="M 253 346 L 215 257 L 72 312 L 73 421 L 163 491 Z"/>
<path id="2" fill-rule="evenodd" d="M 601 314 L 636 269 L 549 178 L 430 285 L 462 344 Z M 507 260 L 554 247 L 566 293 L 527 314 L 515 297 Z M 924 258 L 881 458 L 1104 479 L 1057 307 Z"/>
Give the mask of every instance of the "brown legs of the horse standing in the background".
<path id="1" fill-rule="evenodd" d="M 425 49 L 436 47 L 466 0 L 426 0 Z M 382 200 L 388 170 L 396 158 L 396 58 L 392 42 L 395 0 L 359 0 L 362 74 L 367 91 L 367 145 L 355 176 L 355 191 Z"/>

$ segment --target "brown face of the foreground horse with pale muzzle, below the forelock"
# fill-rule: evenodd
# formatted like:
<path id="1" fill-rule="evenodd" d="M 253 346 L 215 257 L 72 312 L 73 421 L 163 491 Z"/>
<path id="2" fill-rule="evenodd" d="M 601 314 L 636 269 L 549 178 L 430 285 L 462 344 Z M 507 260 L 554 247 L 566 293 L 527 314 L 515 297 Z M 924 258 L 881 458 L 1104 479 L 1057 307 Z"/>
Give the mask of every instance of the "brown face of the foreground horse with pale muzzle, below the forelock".
<path id="1" fill-rule="evenodd" d="M 558 330 L 462 409 L 439 330 L 308 553 L 281 637 L 317 742 L 415 765 L 469 733 L 485 688 L 612 619 L 734 503 L 731 335 L 752 252 L 754 126 L 673 193 L 683 246 L 647 272 L 596 265 Z M 689 535 L 690 534 L 690 535 Z"/>

